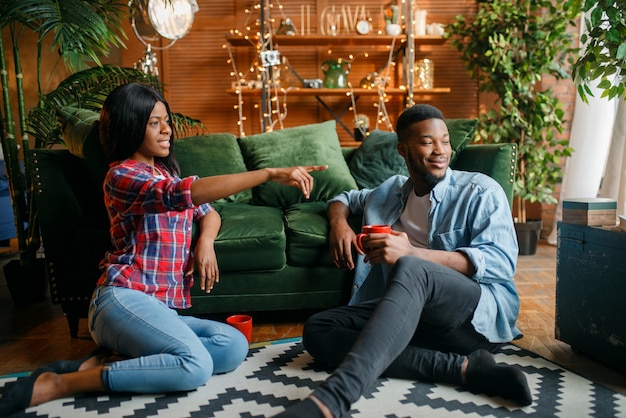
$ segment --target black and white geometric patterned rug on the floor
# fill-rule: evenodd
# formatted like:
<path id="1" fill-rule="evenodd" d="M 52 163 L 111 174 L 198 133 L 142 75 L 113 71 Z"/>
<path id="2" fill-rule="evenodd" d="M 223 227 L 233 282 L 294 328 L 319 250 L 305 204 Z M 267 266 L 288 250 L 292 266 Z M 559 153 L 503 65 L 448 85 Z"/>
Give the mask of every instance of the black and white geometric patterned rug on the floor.
<path id="1" fill-rule="evenodd" d="M 626 417 L 626 396 L 514 345 L 496 354 L 528 377 L 532 405 L 519 408 L 499 398 L 456 386 L 379 379 L 348 417 Z M 232 373 L 213 376 L 197 390 L 160 395 L 77 396 L 29 408 L 14 417 L 271 417 L 305 398 L 328 373 L 303 351 L 300 339 L 250 349 Z M 0 379 L 0 386 L 13 377 Z"/>

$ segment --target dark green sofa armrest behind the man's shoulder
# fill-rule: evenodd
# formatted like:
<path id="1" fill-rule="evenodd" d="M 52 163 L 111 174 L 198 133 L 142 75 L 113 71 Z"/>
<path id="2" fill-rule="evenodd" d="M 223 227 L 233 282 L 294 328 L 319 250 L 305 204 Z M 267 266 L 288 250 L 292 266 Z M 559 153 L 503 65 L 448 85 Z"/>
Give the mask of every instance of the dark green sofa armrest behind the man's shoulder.
<path id="1" fill-rule="evenodd" d="M 455 170 L 478 171 L 487 174 L 502 186 L 509 200 L 509 204 L 512 206 L 516 158 L 516 144 L 468 145 L 459 153 L 452 168 Z"/>

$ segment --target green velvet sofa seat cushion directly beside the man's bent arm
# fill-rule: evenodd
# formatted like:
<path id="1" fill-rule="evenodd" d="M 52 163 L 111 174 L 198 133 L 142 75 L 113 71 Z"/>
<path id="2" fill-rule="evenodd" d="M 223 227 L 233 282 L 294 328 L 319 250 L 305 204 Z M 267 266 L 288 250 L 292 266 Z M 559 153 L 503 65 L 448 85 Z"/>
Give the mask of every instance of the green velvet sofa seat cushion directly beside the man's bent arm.
<path id="1" fill-rule="evenodd" d="M 361 217 L 351 216 L 350 226 L 361 229 Z M 325 202 L 297 203 L 285 210 L 287 263 L 290 266 L 333 266 L 328 247 Z"/>

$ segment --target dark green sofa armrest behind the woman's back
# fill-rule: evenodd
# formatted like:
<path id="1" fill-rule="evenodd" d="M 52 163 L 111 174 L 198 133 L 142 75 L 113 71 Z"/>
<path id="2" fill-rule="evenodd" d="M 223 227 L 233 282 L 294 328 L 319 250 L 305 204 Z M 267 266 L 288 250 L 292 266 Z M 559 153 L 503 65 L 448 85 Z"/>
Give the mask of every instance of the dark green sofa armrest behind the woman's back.
<path id="1" fill-rule="evenodd" d="M 65 149 L 33 150 L 31 158 L 52 301 L 88 301 L 111 247 L 102 184 Z"/>

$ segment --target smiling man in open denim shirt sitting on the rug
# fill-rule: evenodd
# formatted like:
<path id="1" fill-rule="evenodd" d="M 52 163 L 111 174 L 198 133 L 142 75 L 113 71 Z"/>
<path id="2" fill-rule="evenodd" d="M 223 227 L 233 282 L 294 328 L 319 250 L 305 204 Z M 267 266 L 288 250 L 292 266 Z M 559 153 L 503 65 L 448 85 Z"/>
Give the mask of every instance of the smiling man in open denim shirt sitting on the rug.
<path id="1" fill-rule="evenodd" d="M 490 353 L 521 337 L 518 247 L 504 191 L 488 176 L 448 167 L 449 133 L 433 106 L 406 109 L 396 132 L 409 178 L 329 202 L 331 256 L 338 267 L 356 266 L 353 294 L 349 306 L 312 316 L 303 343 L 336 369 L 278 416 L 340 417 L 381 375 L 532 402 L 524 373 Z M 350 213 L 393 231 L 364 237 L 364 252 Z"/>

